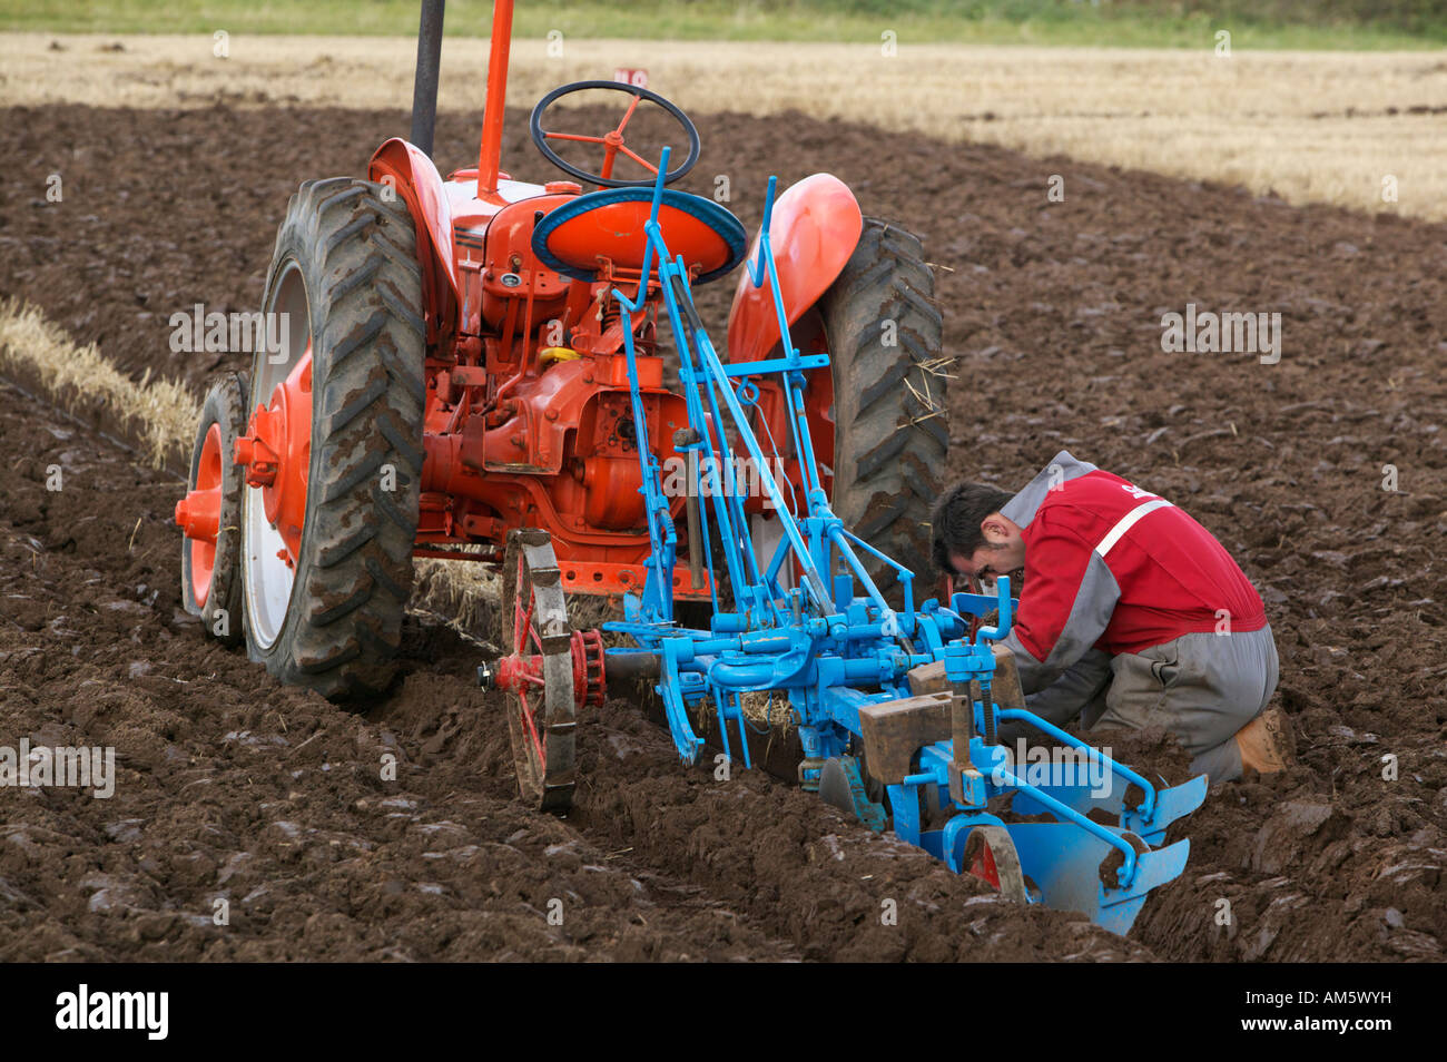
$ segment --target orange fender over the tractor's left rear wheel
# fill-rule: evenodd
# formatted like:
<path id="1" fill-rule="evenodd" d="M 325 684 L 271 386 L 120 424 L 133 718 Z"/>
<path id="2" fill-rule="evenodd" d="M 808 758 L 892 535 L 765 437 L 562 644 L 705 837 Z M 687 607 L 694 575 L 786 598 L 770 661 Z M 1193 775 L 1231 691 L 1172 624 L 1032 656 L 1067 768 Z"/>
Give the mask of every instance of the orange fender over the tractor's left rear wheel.
<path id="1" fill-rule="evenodd" d="M 368 179 L 392 185 L 417 224 L 417 260 L 428 308 L 428 341 L 453 331 L 462 302 L 451 255 L 451 205 L 437 166 L 415 145 L 394 136 L 368 163 Z"/>

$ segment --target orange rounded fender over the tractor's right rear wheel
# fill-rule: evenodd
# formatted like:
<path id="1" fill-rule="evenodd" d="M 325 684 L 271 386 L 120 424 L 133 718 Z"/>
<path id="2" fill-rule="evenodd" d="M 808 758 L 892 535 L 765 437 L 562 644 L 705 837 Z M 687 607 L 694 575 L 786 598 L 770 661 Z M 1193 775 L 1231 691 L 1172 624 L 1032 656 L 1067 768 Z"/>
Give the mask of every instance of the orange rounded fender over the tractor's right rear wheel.
<path id="1" fill-rule="evenodd" d="M 848 185 L 832 174 L 793 184 L 774 201 L 770 246 L 778 268 L 778 291 L 793 324 L 812 307 L 849 260 L 864 231 L 864 214 Z M 758 236 L 748 260 L 758 255 Z M 745 269 L 728 315 L 731 362 L 757 362 L 778 343 L 778 314 L 768 281 L 758 288 Z"/>

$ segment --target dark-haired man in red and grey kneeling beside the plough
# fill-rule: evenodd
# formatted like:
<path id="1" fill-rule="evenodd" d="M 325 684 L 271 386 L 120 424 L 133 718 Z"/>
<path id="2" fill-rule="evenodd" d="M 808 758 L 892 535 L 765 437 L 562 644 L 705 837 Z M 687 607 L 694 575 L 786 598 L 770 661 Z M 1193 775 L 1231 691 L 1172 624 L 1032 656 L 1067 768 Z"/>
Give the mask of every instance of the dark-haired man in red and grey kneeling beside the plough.
<path id="1" fill-rule="evenodd" d="M 1165 498 L 1062 450 L 1014 496 L 951 489 L 933 553 L 952 577 L 1020 586 L 1003 645 L 1043 719 L 1165 726 L 1213 784 L 1286 764 L 1285 716 L 1265 712 L 1278 661 L 1260 595 Z"/>

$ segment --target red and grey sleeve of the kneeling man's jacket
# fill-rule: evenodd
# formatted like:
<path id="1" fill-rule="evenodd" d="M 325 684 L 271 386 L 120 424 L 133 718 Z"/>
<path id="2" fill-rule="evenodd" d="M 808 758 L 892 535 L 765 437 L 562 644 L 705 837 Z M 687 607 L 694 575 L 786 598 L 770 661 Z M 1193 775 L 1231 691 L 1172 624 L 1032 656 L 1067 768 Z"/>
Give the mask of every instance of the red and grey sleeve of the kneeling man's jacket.
<path id="1" fill-rule="evenodd" d="M 1084 657 L 1120 600 L 1106 558 L 1059 515 L 1039 514 L 1030 532 L 1020 608 L 1004 640 L 1026 693 L 1045 689 Z"/>

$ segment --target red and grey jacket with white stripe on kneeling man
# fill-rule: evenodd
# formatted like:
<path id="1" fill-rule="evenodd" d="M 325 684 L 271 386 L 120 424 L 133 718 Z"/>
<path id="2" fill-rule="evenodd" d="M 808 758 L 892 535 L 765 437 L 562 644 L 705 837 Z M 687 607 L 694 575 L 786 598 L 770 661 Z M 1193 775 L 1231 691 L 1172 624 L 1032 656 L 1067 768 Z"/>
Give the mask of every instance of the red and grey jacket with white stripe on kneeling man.
<path id="1" fill-rule="evenodd" d="M 1026 693 L 1092 647 L 1139 653 L 1194 631 L 1259 631 L 1260 595 L 1210 531 L 1166 499 L 1062 450 L 1001 515 L 1022 528 L 1024 586 L 1004 644 Z"/>

